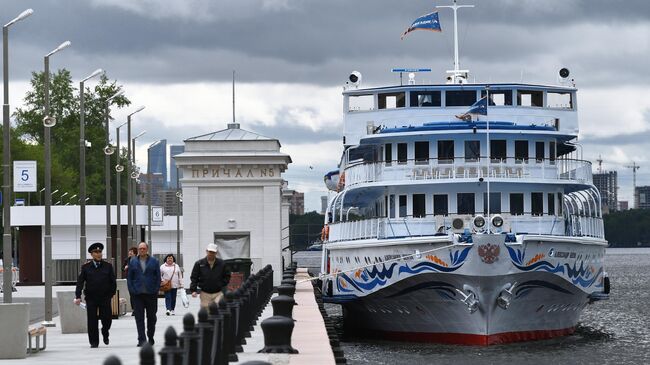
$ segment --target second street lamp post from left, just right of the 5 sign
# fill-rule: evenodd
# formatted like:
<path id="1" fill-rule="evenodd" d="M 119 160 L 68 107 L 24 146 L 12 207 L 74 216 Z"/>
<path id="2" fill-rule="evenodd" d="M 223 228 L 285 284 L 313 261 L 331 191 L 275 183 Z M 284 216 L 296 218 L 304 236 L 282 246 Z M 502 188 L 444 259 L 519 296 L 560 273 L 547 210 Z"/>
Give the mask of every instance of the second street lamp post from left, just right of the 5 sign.
<path id="1" fill-rule="evenodd" d="M 54 327 L 52 322 L 52 221 L 51 206 L 52 195 L 52 157 L 50 147 L 50 129 L 56 125 L 56 118 L 50 116 L 50 56 L 70 46 L 70 41 L 65 41 L 56 47 L 52 52 L 45 55 L 43 63 L 45 66 L 45 81 L 43 82 L 45 95 L 45 116 L 43 126 L 45 127 L 45 320 L 43 325 Z"/>

